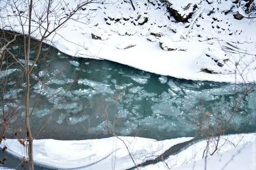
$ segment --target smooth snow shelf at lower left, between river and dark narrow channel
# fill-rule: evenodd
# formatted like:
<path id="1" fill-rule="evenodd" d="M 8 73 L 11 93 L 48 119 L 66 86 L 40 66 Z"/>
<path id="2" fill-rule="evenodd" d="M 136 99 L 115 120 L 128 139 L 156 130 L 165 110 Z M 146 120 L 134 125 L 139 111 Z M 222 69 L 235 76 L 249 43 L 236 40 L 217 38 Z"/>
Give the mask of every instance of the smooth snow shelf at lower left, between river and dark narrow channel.
<path id="1" fill-rule="evenodd" d="M 134 166 L 133 161 L 140 164 L 155 159 L 171 146 L 191 139 L 156 141 L 119 136 L 84 141 L 34 140 L 34 162 L 41 166 L 60 169 L 127 169 Z M 12 155 L 19 158 L 26 156 L 25 146 L 17 139 L 6 139 L 2 142 L 1 148 L 4 146 Z"/>

